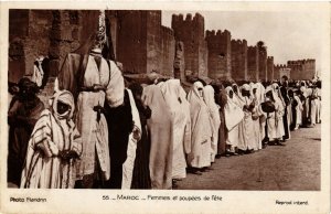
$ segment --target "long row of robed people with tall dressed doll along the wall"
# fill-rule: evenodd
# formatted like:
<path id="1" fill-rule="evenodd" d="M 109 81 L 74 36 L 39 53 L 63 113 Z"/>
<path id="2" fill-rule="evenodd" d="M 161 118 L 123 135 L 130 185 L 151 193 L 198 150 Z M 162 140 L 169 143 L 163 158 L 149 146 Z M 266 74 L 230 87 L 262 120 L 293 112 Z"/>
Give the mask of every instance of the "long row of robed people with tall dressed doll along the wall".
<path id="1" fill-rule="evenodd" d="M 12 186 L 173 189 L 222 156 L 284 146 L 321 121 L 320 81 L 125 84 L 103 31 L 67 55 L 49 108 L 35 83 L 19 82 L 8 113 Z"/>

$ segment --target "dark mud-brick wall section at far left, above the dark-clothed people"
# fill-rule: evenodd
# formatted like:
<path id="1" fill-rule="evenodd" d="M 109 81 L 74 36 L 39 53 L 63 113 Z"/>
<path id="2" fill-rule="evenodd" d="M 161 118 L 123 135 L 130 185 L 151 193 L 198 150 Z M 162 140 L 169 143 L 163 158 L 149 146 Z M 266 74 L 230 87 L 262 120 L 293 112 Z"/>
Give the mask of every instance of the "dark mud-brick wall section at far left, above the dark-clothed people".
<path id="1" fill-rule="evenodd" d="M 47 56 L 52 12 L 44 10 L 9 11 L 9 81 L 31 76 L 33 63 L 40 55 Z"/>

